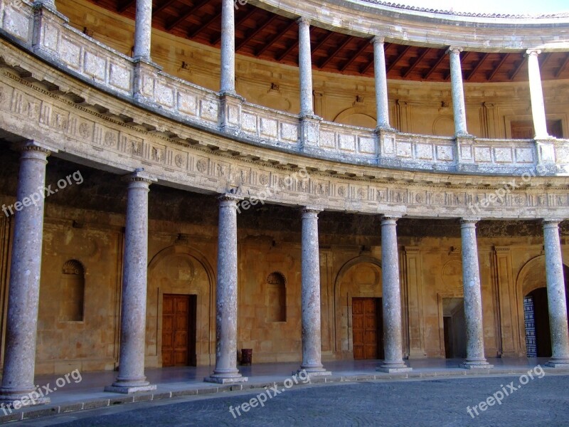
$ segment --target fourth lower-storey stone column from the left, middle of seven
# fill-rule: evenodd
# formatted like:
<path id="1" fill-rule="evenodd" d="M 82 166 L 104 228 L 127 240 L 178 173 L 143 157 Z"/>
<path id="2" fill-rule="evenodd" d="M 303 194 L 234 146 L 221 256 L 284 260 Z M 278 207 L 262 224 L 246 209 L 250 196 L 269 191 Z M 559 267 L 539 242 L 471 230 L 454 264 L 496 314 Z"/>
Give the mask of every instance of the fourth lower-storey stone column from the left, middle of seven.
<path id="1" fill-rule="evenodd" d="M 309 375 L 331 375 L 321 363 L 320 209 L 302 209 L 302 364 Z"/>

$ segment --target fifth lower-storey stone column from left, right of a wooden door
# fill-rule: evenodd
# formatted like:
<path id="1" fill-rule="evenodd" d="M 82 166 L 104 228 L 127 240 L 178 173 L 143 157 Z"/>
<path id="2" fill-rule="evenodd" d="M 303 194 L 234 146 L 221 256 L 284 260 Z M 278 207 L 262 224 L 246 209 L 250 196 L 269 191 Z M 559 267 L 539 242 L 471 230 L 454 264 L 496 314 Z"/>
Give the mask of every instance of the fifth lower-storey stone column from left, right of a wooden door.
<path id="1" fill-rule="evenodd" d="M 383 349 L 385 358 L 378 367 L 382 372 L 408 372 L 403 363 L 401 344 L 401 290 L 399 283 L 399 252 L 397 247 L 397 216 L 381 219 L 381 301 L 383 304 Z"/>

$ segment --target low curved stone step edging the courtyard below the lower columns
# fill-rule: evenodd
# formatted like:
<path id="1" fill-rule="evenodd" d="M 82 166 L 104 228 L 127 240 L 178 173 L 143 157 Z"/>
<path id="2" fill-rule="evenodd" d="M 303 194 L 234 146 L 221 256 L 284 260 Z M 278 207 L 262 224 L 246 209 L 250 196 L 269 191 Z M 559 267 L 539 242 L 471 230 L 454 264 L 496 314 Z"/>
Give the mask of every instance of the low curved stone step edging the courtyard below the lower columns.
<path id="1" fill-rule="evenodd" d="M 326 383 L 354 383 L 358 381 L 381 381 L 393 379 L 432 379 L 444 376 L 447 379 L 462 378 L 466 376 L 480 376 L 480 375 L 512 375 L 512 374 L 527 374 L 530 367 L 515 367 L 506 369 L 442 369 L 442 370 L 428 370 L 428 371 L 410 371 L 400 373 L 382 373 L 376 372 L 374 374 L 346 374 L 331 376 L 311 376 L 310 382 L 307 384 L 326 384 Z M 569 369 L 565 368 L 547 368 L 543 367 L 546 374 L 569 374 Z M 294 384 L 294 387 L 303 386 Z M 267 387 L 284 387 L 285 380 L 283 381 L 270 381 L 270 382 L 250 382 L 240 384 L 226 384 L 216 386 L 214 384 L 198 384 L 197 387 L 176 390 L 176 391 L 152 391 L 152 392 L 139 392 L 133 393 L 128 396 L 111 394 L 108 398 L 86 399 L 85 401 L 69 401 L 63 404 L 48 404 L 46 406 L 33 406 L 31 408 L 13 411 L 4 415 L 0 410 L 0 423 L 9 423 L 11 421 L 22 421 L 32 418 L 40 418 L 44 416 L 53 416 L 63 413 L 72 413 L 76 411 L 87 411 L 89 409 L 105 408 L 107 406 L 116 406 L 122 404 L 133 404 L 138 402 L 159 401 L 165 399 L 175 399 L 184 396 L 203 396 L 206 394 L 218 394 L 228 391 L 255 391 L 265 389 Z M 93 392 L 99 392 L 93 391 Z"/>

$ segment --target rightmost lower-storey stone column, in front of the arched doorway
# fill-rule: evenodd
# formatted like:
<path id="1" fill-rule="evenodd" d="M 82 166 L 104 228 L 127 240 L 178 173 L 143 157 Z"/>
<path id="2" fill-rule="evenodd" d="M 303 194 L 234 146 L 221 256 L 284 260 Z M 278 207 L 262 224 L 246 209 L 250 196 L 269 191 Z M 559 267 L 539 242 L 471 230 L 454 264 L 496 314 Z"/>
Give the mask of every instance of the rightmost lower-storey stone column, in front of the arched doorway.
<path id="1" fill-rule="evenodd" d="M 551 330 L 551 359 L 546 366 L 569 368 L 569 332 L 563 258 L 559 242 L 560 219 L 543 220 L 543 240 L 546 248 L 547 303 Z"/>

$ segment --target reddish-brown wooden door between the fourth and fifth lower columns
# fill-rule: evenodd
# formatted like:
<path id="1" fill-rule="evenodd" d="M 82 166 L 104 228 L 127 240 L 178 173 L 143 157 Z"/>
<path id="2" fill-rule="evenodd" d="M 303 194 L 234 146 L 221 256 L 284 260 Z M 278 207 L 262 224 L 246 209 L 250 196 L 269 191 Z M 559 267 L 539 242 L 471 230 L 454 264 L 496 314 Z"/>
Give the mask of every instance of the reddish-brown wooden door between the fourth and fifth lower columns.
<path id="1" fill-rule="evenodd" d="M 383 358 L 381 298 L 352 298 L 353 359 Z"/>

